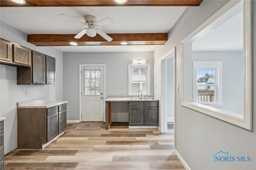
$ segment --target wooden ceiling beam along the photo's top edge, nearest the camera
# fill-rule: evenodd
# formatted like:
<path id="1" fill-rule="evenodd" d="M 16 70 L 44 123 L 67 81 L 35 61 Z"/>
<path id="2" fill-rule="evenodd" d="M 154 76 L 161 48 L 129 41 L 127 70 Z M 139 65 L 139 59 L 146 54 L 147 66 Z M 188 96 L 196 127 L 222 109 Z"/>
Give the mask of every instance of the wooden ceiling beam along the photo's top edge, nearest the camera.
<path id="1" fill-rule="evenodd" d="M 26 0 L 20 5 L 11 0 L 1 0 L 0 7 L 64 7 L 64 6 L 199 6 L 203 0 L 128 0 L 116 4 L 113 0 Z"/>

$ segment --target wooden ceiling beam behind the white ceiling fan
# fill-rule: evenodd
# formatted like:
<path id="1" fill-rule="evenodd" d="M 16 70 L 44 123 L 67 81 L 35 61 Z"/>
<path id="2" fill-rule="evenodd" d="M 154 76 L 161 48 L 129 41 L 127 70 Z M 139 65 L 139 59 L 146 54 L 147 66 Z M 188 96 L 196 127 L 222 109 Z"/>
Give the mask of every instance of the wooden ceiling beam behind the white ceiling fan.
<path id="1" fill-rule="evenodd" d="M 29 34 L 28 42 L 37 46 L 71 46 L 70 42 L 78 45 L 121 45 L 120 42 L 128 42 L 128 45 L 163 45 L 166 43 L 167 33 L 142 33 L 142 34 L 108 34 L 113 40 L 107 42 L 100 35 L 96 37 L 82 36 L 75 39 L 76 34 Z"/>

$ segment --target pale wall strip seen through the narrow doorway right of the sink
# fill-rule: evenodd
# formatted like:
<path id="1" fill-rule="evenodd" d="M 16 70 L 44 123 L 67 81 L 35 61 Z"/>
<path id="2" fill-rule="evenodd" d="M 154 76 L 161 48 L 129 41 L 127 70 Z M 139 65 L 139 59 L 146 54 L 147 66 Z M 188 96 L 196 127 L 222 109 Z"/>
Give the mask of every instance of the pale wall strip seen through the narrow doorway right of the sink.
<path id="1" fill-rule="evenodd" d="M 174 57 L 167 60 L 167 121 L 174 120 Z"/>

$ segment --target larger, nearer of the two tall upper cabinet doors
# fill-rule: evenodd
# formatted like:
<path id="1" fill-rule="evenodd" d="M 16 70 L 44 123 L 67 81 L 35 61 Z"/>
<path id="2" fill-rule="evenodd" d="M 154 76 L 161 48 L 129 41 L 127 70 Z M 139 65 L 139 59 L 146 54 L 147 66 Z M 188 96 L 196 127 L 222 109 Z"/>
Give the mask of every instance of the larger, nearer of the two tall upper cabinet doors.
<path id="1" fill-rule="evenodd" d="M 45 84 L 46 55 L 32 51 L 32 83 Z"/>

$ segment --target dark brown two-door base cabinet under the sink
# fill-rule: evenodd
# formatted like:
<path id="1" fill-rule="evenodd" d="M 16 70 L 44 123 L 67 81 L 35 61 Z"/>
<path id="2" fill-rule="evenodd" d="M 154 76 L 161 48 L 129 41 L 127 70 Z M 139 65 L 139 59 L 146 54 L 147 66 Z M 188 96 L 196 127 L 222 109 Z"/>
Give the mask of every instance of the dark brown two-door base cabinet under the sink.
<path id="1" fill-rule="evenodd" d="M 129 102 L 130 126 L 157 126 L 158 101 L 130 101 Z"/>

